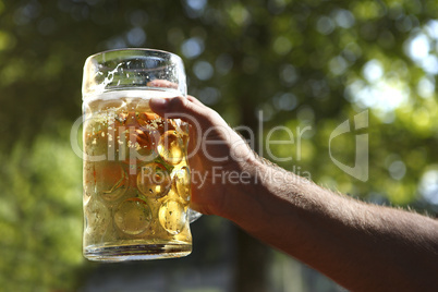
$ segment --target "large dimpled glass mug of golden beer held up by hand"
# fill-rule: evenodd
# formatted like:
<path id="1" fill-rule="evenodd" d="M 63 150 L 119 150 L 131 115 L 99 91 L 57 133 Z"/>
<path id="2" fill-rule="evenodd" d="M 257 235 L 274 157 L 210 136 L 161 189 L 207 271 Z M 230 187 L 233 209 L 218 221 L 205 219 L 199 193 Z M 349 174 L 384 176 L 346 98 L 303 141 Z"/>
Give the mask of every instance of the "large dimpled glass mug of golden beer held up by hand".
<path id="1" fill-rule="evenodd" d="M 84 256 L 121 261 L 192 252 L 188 125 L 149 108 L 186 96 L 177 54 L 121 49 L 88 57 L 83 76 Z M 192 218 L 191 218 L 192 217 Z"/>

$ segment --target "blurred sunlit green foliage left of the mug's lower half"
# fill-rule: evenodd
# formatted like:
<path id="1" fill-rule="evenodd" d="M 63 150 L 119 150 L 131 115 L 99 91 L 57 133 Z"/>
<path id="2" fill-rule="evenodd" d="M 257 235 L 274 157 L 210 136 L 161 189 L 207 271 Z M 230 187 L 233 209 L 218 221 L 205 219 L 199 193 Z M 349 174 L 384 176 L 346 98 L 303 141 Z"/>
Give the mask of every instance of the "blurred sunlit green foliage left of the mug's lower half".
<path id="1" fill-rule="evenodd" d="M 70 143 L 42 135 L 1 158 L 3 289 L 71 289 L 83 261 L 81 160 Z"/>

